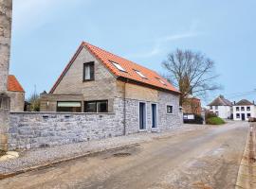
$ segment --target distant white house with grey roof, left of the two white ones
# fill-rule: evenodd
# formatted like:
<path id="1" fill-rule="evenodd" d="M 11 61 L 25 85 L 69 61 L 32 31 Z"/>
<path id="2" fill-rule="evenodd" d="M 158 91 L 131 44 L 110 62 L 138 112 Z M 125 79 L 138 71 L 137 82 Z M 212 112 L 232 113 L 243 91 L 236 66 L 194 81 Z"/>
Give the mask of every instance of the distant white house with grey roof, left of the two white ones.
<path id="1" fill-rule="evenodd" d="M 223 95 L 216 97 L 209 105 L 210 112 L 216 113 L 223 119 L 231 118 L 232 103 L 226 99 Z"/>

